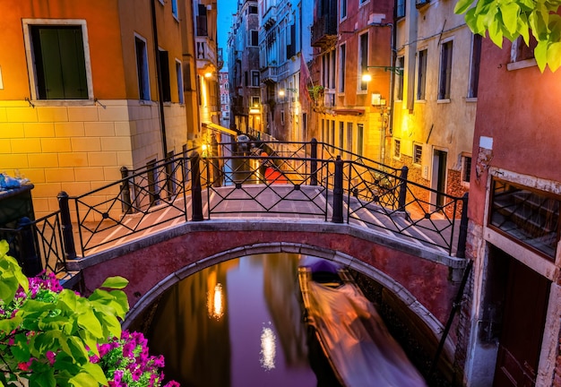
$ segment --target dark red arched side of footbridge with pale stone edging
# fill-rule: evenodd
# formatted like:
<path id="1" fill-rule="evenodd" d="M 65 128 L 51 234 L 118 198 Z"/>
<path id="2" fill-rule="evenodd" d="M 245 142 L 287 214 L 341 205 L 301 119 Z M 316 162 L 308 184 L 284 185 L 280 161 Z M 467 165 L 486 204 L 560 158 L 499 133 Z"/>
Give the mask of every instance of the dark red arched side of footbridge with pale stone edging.
<path id="1" fill-rule="evenodd" d="M 465 267 L 465 260 L 373 230 L 302 219 L 190 222 L 73 260 L 68 267 L 82 271 L 86 293 L 111 276 L 129 280 L 126 327 L 177 281 L 218 262 L 263 253 L 313 255 L 365 274 L 419 316 L 435 338 L 452 310 Z"/>

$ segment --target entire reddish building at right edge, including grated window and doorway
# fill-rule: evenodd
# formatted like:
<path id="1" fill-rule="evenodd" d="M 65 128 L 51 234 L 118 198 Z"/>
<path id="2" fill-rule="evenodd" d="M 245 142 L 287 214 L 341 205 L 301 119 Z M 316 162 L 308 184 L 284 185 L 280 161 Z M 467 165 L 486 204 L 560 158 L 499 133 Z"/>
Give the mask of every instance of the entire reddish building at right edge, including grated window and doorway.
<path id="1" fill-rule="evenodd" d="M 521 41 L 489 39 L 480 68 L 465 375 L 468 385 L 558 386 L 561 72 L 540 73 Z"/>

